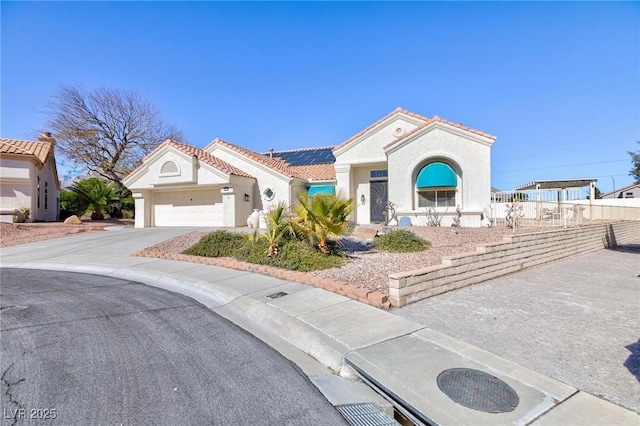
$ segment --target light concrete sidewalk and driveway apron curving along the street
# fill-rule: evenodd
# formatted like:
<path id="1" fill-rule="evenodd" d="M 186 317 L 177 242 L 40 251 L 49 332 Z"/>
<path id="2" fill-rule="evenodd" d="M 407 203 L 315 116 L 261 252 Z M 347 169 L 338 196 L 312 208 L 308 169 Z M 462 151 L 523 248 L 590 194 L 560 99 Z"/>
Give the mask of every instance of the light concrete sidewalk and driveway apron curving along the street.
<path id="1" fill-rule="evenodd" d="M 195 229 L 147 228 L 84 234 L 3 248 L 0 266 L 109 275 L 198 300 L 298 364 L 334 405 L 389 404 L 434 424 L 629 424 L 638 413 L 601 400 L 418 323 L 343 296 L 276 278 L 131 253 Z M 198 229 L 202 231 L 202 229 Z M 445 370 L 468 368 L 517 394 L 510 411 L 466 408 L 440 390 Z M 484 399 L 483 391 L 478 396 Z"/>

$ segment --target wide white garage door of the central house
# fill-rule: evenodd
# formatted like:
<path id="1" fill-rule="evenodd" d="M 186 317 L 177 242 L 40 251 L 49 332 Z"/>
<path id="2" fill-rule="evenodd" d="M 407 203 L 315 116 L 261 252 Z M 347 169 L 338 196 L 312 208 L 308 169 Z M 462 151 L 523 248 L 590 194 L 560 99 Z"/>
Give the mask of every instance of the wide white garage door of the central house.
<path id="1" fill-rule="evenodd" d="M 154 192 L 155 226 L 222 226 L 219 189 Z"/>

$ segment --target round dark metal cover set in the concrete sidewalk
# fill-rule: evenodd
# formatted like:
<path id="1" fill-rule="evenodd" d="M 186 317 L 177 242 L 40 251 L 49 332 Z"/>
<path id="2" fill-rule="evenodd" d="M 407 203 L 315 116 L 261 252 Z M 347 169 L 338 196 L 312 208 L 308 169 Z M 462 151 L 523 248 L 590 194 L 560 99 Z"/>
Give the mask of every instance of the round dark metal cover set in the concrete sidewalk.
<path id="1" fill-rule="evenodd" d="M 511 386 L 483 371 L 452 368 L 438 375 L 438 387 L 445 395 L 467 408 L 485 413 L 508 413 L 520 398 Z"/>

